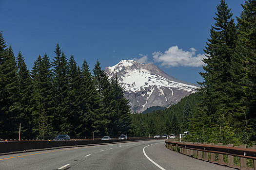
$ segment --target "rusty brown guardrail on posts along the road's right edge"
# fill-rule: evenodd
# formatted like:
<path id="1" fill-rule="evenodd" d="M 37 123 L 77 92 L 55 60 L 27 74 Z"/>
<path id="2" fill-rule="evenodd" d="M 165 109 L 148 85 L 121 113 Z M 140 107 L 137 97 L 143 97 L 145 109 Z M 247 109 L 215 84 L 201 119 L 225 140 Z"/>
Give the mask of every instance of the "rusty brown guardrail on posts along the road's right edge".
<path id="1" fill-rule="evenodd" d="M 254 161 L 254 170 L 256 170 L 256 146 L 252 148 L 245 148 L 245 145 L 240 145 L 240 147 L 222 146 L 222 143 L 214 145 L 213 143 L 198 144 L 198 143 L 183 143 L 175 142 L 171 140 L 165 140 L 165 143 L 174 148 L 180 148 L 179 152 L 197 157 L 198 159 L 203 159 L 205 161 L 216 162 L 215 154 L 218 154 L 218 163 L 220 165 L 224 164 L 223 155 L 228 155 L 228 166 L 234 166 L 234 156 L 240 157 L 240 168 L 246 168 L 246 159 L 252 159 Z M 202 153 L 204 156 L 202 157 Z M 210 153 L 210 160 L 208 160 L 208 153 Z"/>

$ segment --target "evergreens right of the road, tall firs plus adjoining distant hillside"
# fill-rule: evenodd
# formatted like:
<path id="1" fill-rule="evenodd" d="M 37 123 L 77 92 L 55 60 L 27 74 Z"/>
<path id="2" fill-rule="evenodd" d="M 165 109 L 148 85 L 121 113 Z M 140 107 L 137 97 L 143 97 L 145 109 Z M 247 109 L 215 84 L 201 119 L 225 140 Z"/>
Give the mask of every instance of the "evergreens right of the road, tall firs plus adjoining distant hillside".
<path id="1" fill-rule="evenodd" d="M 198 83 L 201 88 L 196 96 L 163 111 L 135 115 L 135 133 L 140 131 L 136 129 L 154 134 L 189 130 L 187 140 L 194 142 L 256 141 L 256 0 L 247 0 L 242 7 L 235 24 L 225 0 L 217 5 L 216 23 L 204 50 L 203 82 Z M 187 105 L 184 101 L 194 102 Z"/>

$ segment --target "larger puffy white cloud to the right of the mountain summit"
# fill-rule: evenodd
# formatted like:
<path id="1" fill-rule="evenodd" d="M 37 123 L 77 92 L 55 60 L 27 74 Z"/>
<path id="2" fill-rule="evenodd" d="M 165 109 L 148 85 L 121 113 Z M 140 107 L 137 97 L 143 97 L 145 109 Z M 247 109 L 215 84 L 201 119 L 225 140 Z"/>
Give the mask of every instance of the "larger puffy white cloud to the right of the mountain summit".
<path id="1" fill-rule="evenodd" d="M 189 66 L 200 67 L 203 66 L 202 62 L 204 54 L 197 54 L 196 49 L 191 48 L 190 51 L 183 51 L 178 49 L 178 46 L 170 47 L 164 53 L 160 51 L 153 52 L 154 62 L 161 63 L 161 66 L 177 67 L 177 66 Z M 142 57 L 143 58 L 143 57 Z"/>

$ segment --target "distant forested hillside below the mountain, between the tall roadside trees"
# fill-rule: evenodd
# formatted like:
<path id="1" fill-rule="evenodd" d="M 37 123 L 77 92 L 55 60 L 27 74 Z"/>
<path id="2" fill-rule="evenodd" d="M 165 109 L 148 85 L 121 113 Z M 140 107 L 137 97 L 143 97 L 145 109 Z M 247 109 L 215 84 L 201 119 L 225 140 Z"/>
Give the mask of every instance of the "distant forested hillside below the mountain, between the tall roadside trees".
<path id="1" fill-rule="evenodd" d="M 193 109 L 198 105 L 199 94 L 191 94 L 169 108 L 152 113 L 133 114 L 131 133 L 134 136 L 155 136 L 163 134 L 180 134 L 188 131 L 189 119 Z"/>

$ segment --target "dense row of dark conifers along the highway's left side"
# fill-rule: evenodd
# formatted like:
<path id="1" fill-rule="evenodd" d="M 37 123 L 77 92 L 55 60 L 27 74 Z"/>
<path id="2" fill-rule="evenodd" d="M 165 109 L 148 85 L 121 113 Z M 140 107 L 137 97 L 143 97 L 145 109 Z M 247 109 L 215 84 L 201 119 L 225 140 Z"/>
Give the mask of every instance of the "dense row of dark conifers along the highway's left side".
<path id="1" fill-rule="evenodd" d="M 108 80 L 99 61 L 93 73 L 84 60 L 67 59 L 59 44 L 51 62 L 38 56 L 31 72 L 0 32 L 0 138 L 118 136 L 128 133 L 131 112 L 118 78 Z"/>

